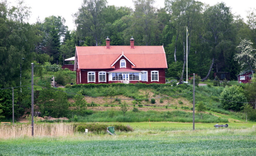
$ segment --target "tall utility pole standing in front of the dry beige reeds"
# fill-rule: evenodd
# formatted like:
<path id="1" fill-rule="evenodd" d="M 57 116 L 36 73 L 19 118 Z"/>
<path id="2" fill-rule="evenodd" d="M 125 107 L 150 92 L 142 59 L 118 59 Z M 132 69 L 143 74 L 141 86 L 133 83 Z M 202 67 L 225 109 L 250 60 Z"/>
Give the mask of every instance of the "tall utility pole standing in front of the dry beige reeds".
<path id="1" fill-rule="evenodd" d="M 31 133 L 34 136 L 34 63 L 31 63 Z"/>

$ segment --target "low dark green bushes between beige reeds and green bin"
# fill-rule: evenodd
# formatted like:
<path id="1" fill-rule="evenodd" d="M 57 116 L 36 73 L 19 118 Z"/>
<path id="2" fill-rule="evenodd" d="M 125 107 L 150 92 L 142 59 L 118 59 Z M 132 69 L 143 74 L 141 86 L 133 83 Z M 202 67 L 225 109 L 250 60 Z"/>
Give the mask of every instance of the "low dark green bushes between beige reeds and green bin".
<path id="1" fill-rule="evenodd" d="M 129 132 L 133 131 L 133 128 L 130 126 L 124 126 L 122 124 L 99 124 L 99 123 L 79 123 L 76 124 L 76 131 L 78 132 L 84 132 L 85 129 L 88 129 L 88 131 L 93 132 L 93 133 L 107 133 L 107 127 L 113 126 L 115 127 L 115 131 L 124 131 L 124 132 Z"/>

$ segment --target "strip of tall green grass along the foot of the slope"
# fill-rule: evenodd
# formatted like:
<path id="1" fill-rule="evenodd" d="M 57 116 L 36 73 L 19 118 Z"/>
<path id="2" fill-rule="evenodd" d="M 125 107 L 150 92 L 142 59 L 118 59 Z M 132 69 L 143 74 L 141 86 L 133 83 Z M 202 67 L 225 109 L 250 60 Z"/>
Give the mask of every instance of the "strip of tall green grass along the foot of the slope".
<path id="1" fill-rule="evenodd" d="M 123 116 L 122 111 L 98 111 L 90 116 L 78 116 L 78 122 L 193 122 L 193 113 L 184 111 L 127 111 Z M 197 123 L 228 123 L 228 119 L 205 114 L 195 117 Z"/>

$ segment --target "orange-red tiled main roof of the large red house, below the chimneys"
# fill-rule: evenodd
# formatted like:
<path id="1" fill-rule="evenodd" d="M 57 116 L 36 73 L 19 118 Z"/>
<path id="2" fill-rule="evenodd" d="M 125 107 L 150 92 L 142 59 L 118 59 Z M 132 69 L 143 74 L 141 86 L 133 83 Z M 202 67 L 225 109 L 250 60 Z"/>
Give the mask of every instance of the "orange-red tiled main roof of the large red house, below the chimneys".
<path id="1" fill-rule="evenodd" d="M 79 69 L 110 69 L 120 55 L 125 55 L 136 65 L 132 68 L 167 68 L 163 46 L 76 46 Z"/>

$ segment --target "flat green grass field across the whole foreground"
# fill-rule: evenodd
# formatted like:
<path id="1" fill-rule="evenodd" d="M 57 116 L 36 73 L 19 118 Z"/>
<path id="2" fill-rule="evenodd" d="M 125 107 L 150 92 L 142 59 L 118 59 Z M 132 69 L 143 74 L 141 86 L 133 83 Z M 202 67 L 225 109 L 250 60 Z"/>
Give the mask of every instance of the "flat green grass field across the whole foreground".
<path id="1" fill-rule="evenodd" d="M 128 124 L 134 131 L 116 132 L 117 136 L 76 133 L 0 139 L 0 156 L 253 156 L 256 152 L 256 123 L 230 123 L 228 128 L 197 123 L 195 131 L 191 123 L 151 122 L 150 127 L 148 122 Z"/>

